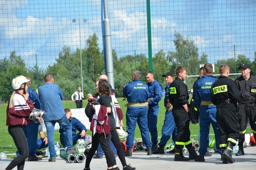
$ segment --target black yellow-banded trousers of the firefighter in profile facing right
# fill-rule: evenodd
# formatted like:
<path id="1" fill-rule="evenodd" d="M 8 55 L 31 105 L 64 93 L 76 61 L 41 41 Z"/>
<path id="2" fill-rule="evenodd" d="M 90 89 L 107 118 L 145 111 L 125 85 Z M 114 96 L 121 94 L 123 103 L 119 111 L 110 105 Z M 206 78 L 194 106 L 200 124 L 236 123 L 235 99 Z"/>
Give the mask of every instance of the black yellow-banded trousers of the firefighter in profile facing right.
<path id="1" fill-rule="evenodd" d="M 177 135 L 175 148 L 181 149 L 186 146 L 186 148 L 192 147 L 192 142 L 190 140 L 190 130 L 189 130 L 189 115 L 185 109 L 172 109 L 172 115 L 174 117 L 174 122 L 177 126 Z"/>

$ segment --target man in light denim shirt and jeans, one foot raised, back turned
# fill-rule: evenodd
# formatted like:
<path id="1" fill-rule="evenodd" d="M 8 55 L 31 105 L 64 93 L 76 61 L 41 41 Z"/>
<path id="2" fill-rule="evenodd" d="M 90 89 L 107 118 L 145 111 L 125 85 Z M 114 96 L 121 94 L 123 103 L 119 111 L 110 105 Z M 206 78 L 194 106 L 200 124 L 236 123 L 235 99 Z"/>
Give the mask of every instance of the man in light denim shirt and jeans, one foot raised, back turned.
<path id="1" fill-rule="evenodd" d="M 53 84 L 54 78 L 52 74 L 45 75 L 45 84 L 39 87 L 39 99 L 42 103 L 44 113 L 44 122 L 47 130 L 48 145 L 50 152 L 49 162 L 56 161 L 56 152 L 54 149 L 54 126 L 56 123 L 62 125 L 66 129 L 67 153 L 78 153 L 72 148 L 72 131 L 69 119 L 65 115 L 61 100 L 63 93 L 58 85 Z"/>

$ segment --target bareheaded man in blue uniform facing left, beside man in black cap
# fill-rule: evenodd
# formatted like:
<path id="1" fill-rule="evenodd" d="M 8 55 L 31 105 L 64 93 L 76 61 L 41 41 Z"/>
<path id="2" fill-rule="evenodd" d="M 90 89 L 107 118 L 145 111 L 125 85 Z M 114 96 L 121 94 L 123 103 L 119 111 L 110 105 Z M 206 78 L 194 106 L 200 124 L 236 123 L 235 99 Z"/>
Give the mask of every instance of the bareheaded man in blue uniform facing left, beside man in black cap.
<path id="1" fill-rule="evenodd" d="M 162 98 L 162 86 L 154 79 L 154 75 L 151 71 L 148 71 L 145 74 L 145 77 L 148 81 L 148 92 L 149 98 L 146 105 L 148 105 L 148 129 L 151 134 L 151 142 L 152 142 L 152 151 L 157 150 L 158 143 L 158 134 L 157 134 L 157 115 L 159 112 L 159 105 Z"/>

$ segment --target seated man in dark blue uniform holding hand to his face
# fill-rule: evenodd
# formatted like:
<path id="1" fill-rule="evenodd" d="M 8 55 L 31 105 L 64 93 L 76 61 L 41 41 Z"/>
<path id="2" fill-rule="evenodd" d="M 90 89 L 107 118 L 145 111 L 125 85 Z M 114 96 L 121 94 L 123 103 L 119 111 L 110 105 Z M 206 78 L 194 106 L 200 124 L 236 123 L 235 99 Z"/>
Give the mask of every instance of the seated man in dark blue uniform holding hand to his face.
<path id="1" fill-rule="evenodd" d="M 72 140 L 73 140 L 72 145 L 75 145 L 78 139 L 85 140 L 85 133 L 87 131 L 86 127 L 78 119 L 76 119 L 75 117 L 72 117 L 72 112 L 70 109 L 66 108 L 64 109 L 64 111 L 72 127 Z M 76 133 L 76 130 L 78 130 L 79 132 Z M 60 143 L 63 145 L 63 147 L 66 147 L 67 146 L 66 129 L 62 125 L 60 125 L 59 132 L 60 132 Z"/>

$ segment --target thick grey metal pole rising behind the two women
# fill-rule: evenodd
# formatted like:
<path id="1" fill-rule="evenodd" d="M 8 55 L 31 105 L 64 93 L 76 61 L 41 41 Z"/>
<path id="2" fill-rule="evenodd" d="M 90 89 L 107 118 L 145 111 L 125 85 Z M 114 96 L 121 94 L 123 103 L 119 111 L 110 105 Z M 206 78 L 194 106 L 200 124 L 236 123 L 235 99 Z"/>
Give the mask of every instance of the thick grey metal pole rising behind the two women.
<path id="1" fill-rule="evenodd" d="M 108 18 L 108 0 L 103 1 L 104 6 L 104 37 L 105 37 L 105 55 L 106 55 L 106 72 L 108 76 L 108 82 L 115 88 L 114 84 L 114 69 L 113 69 L 113 56 L 112 56 L 112 43 L 111 43 L 111 29 L 110 20 Z"/>

